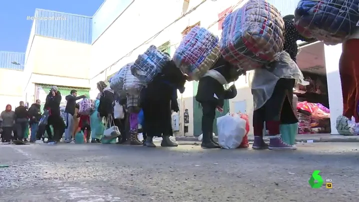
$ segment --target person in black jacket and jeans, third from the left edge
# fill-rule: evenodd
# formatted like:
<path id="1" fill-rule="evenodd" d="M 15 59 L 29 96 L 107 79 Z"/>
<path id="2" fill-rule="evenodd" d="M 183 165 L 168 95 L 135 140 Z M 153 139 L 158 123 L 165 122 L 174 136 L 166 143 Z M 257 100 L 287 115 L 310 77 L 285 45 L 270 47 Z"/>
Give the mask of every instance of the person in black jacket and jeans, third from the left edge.
<path id="1" fill-rule="evenodd" d="M 31 104 L 28 109 L 28 116 L 30 118 L 29 124 L 31 128 L 30 142 L 34 142 L 36 140 L 36 133 L 38 129 L 38 122 L 41 119 L 41 101 L 36 99 L 36 102 Z"/>

